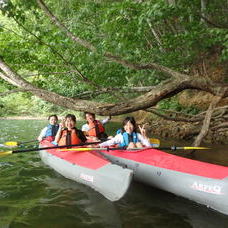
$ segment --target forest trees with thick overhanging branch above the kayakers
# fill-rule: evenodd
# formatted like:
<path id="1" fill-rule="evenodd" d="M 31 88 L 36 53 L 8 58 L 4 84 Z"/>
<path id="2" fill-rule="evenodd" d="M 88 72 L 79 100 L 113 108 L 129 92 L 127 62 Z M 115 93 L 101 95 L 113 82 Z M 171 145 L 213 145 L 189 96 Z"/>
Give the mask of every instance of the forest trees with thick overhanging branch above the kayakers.
<path id="1" fill-rule="evenodd" d="M 226 0 L 0 0 L 0 9 L 2 108 L 36 96 L 119 115 L 169 109 L 190 89 L 212 96 L 212 113 L 227 99 Z"/>

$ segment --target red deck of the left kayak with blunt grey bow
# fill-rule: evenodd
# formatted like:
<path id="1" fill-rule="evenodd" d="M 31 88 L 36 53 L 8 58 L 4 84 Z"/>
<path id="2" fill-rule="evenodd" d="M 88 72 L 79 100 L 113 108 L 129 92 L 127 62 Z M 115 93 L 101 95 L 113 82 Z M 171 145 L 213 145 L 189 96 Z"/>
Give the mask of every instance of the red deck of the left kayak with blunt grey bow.
<path id="1" fill-rule="evenodd" d="M 54 145 L 50 142 L 44 141 L 41 143 L 43 147 L 51 147 Z M 76 147 L 75 147 L 76 149 Z M 89 169 L 99 169 L 110 162 L 106 159 L 95 155 L 91 152 L 80 152 L 80 151 L 60 151 L 58 148 L 46 150 L 48 153 L 55 155 L 65 161 L 70 162 L 71 164 L 77 164 L 82 167 Z"/>

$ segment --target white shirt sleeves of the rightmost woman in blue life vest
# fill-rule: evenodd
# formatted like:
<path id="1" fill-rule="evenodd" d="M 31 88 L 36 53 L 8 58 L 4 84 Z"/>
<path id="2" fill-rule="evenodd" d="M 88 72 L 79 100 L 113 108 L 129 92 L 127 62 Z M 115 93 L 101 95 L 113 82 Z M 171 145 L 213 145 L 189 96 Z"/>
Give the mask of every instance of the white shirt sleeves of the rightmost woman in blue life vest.
<path id="1" fill-rule="evenodd" d="M 147 146 L 147 147 L 151 146 L 148 139 L 144 138 L 140 133 L 137 133 L 137 137 L 138 137 L 139 142 L 141 142 L 143 144 L 143 146 Z M 117 134 L 114 138 L 112 138 L 108 141 L 105 141 L 103 143 L 100 143 L 99 146 L 106 147 L 106 146 L 121 144 L 123 142 L 124 142 L 124 138 L 123 138 L 123 135 L 120 133 L 120 134 Z"/>

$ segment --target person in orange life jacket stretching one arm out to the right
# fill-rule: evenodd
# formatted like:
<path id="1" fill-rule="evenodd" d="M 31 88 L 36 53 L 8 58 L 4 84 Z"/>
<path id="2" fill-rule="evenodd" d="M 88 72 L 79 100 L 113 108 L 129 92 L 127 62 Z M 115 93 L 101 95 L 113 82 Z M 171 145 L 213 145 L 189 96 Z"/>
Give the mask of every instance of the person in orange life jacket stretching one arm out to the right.
<path id="1" fill-rule="evenodd" d="M 84 116 L 87 123 L 82 126 L 82 131 L 88 140 L 97 141 L 108 138 L 104 125 L 111 119 L 111 116 L 102 121 L 96 120 L 94 113 L 85 112 Z"/>

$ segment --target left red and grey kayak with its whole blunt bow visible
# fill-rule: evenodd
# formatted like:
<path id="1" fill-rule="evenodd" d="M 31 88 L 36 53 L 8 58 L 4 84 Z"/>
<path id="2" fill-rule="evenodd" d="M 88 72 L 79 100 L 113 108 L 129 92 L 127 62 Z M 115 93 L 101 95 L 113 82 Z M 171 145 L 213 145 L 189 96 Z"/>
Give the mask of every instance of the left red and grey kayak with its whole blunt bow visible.
<path id="1" fill-rule="evenodd" d="M 53 146 L 50 142 L 40 147 Z M 85 184 L 111 201 L 119 200 L 127 192 L 132 170 L 111 164 L 100 154 L 93 152 L 40 150 L 42 161 L 64 177 Z"/>

